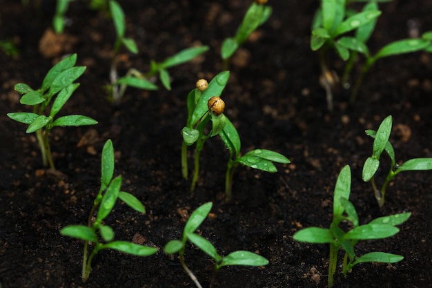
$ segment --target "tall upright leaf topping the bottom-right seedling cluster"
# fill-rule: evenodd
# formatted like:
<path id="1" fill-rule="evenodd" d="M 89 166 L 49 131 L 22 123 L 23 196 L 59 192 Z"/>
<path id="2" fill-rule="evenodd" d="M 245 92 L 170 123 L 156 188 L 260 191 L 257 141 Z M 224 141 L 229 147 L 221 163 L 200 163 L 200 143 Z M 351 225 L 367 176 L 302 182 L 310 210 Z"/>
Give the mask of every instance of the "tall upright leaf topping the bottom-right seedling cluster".
<path id="1" fill-rule="evenodd" d="M 341 198 L 349 199 L 351 193 L 351 169 L 348 165 L 340 171 L 336 180 L 335 192 L 333 194 L 333 222 L 339 223 L 342 220 L 344 207 Z M 336 224 L 337 224 L 336 223 Z"/>

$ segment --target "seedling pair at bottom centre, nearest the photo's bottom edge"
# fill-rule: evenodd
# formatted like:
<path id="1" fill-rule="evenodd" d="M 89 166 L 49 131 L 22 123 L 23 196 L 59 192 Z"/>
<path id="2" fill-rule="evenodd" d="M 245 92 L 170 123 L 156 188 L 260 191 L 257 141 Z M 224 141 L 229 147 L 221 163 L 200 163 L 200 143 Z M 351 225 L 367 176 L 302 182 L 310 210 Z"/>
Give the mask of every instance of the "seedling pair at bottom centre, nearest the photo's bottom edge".
<path id="1" fill-rule="evenodd" d="M 195 233 L 202 222 L 206 219 L 211 207 L 212 203 L 208 202 L 196 209 L 192 215 L 190 215 L 188 222 L 186 222 L 181 240 L 170 240 L 170 242 L 168 242 L 164 247 L 164 251 L 167 254 L 179 253 L 181 267 L 183 267 L 184 271 L 188 273 L 188 276 L 193 280 L 198 288 L 202 288 L 202 285 L 199 283 L 193 272 L 188 269 L 184 261 L 184 250 L 187 241 L 191 242 L 196 247 L 204 251 L 204 253 L 213 258 L 215 261 L 215 268 L 213 271 L 213 277 L 210 281 L 210 288 L 212 288 L 215 284 L 217 272 L 224 266 L 242 265 L 257 267 L 268 264 L 268 260 L 266 258 L 249 251 L 234 251 L 229 253 L 227 256 L 221 256 L 219 253 L 217 253 L 213 244 Z"/>

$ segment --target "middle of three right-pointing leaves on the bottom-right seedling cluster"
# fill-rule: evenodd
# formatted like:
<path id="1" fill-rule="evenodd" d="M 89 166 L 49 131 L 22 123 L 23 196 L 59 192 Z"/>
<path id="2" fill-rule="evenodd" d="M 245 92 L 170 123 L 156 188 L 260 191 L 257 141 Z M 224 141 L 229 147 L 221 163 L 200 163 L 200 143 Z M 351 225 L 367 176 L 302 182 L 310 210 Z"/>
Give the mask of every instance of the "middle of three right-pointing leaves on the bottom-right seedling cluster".
<path id="1" fill-rule="evenodd" d="M 389 224 L 365 224 L 348 231 L 343 239 L 373 240 L 389 238 L 399 232 L 397 227 Z"/>

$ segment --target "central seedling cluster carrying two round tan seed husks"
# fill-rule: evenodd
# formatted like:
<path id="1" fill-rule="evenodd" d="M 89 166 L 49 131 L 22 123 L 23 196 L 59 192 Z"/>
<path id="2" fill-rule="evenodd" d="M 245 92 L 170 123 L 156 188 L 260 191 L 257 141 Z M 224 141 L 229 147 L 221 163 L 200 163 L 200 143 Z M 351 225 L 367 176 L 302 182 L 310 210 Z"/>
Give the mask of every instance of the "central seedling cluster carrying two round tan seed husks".
<path id="1" fill-rule="evenodd" d="M 186 126 L 181 130 L 183 135 L 183 144 L 181 149 L 181 169 L 183 177 L 188 179 L 188 162 L 187 162 L 187 146 L 195 146 L 194 155 L 194 175 L 190 190 L 194 191 L 199 174 L 199 153 L 204 147 L 204 143 L 208 138 L 219 135 L 228 148 L 230 157 L 226 169 L 225 193 L 226 200 L 230 200 L 232 196 L 233 175 L 235 167 L 238 164 L 249 166 L 253 169 L 259 169 L 266 172 L 277 172 L 273 162 L 288 164 L 290 160 L 284 155 L 265 149 L 256 149 L 249 151 L 243 156 L 240 156 L 241 142 L 237 129 L 230 122 L 223 112 L 225 108 L 224 101 L 219 96 L 224 90 L 228 82 L 229 73 L 224 71 L 216 75 L 209 84 L 205 83 L 201 86 L 201 81 L 197 82 L 197 88 L 190 91 L 188 94 L 188 121 Z M 212 122 L 212 128 L 206 134 L 206 126 L 208 122 Z"/>

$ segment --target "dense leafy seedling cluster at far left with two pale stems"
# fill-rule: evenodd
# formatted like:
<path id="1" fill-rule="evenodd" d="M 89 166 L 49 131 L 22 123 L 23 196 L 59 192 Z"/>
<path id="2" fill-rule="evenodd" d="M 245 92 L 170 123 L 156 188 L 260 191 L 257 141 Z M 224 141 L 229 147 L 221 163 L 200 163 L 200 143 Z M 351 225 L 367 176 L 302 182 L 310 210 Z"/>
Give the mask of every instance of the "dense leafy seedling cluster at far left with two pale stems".
<path id="1" fill-rule="evenodd" d="M 33 106 L 33 112 L 8 113 L 8 117 L 17 122 L 28 124 L 26 133 L 36 133 L 37 141 L 41 148 L 43 166 L 55 169 L 52 161 L 49 134 L 55 126 L 85 126 L 95 125 L 97 121 L 83 115 L 61 116 L 55 119 L 57 113 L 68 101 L 72 93 L 78 88 L 79 83 L 73 83 L 86 70 L 84 66 L 75 66 L 77 55 L 72 54 L 53 66 L 43 79 L 41 88 L 34 90 L 27 84 L 18 83 L 14 89 L 23 94 L 19 102 Z M 55 98 L 48 113 L 51 100 Z"/>

